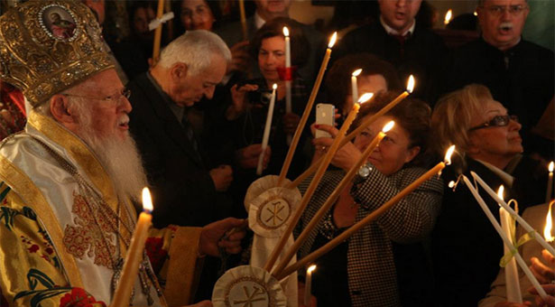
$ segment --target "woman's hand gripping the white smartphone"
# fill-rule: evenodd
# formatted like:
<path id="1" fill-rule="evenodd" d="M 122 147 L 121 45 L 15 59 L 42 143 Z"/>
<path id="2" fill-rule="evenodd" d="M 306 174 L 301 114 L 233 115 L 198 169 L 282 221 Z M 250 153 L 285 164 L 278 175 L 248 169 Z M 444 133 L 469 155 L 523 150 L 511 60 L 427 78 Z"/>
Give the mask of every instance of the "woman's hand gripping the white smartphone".
<path id="1" fill-rule="evenodd" d="M 337 128 L 328 125 L 314 125 L 314 128 L 325 131 L 332 136 L 319 137 L 312 140 L 312 144 L 314 144 L 316 148 L 315 155 L 318 154 L 319 156 L 321 156 L 328 151 L 328 148 L 333 143 L 333 139 L 336 137 L 336 135 L 338 135 L 339 131 Z M 347 144 L 339 148 L 336 154 L 334 154 L 333 159 L 331 159 L 331 163 L 343 169 L 345 172 L 348 172 L 348 170 L 350 170 L 353 165 L 356 164 L 358 159 L 360 159 L 361 155 L 362 153 L 355 147 L 354 144 L 352 144 L 351 142 L 347 142 Z M 317 157 L 314 157 L 314 159 L 316 158 Z"/>

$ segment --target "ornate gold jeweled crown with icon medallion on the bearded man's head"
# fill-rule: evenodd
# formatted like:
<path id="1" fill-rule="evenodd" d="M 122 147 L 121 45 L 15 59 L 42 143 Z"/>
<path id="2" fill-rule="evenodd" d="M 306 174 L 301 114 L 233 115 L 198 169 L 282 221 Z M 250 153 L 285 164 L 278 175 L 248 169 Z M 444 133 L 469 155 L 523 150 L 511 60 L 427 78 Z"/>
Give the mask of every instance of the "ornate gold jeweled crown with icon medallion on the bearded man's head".
<path id="1" fill-rule="evenodd" d="M 32 0 L 0 17 L 0 78 L 32 107 L 113 67 L 95 16 L 80 2 Z"/>

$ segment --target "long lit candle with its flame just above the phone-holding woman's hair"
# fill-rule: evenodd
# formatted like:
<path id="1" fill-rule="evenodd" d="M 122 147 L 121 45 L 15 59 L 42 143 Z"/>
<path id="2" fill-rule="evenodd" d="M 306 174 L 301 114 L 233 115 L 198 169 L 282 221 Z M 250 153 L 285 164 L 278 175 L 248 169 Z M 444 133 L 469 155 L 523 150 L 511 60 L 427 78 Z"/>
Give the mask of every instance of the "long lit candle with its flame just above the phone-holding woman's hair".
<path id="1" fill-rule="evenodd" d="M 378 112 L 376 112 L 375 115 L 370 116 L 368 119 L 366 119 L 360 126 L 358 126 L 350 134 L 345 136 L 345 138 L 343 139 L 343 143 L 341 145 L 344 145 L 344 144 L 347 144 L 347 142 L 350 142 L 352 139 L 356 137 L 356 135 L 359 135 L 363 130 L 365 130 L 366 126 L 370 126 L 370 124 L 374 123 L 378 117 L 384 116 L 385 113 L 387 113 L 393 107 L 397 106 L 402 101 L 402 99 L 409 96 L 409 94 L 412 93 L 412 89 L 414 89 L 414 83 L 415 83 L 414 77 L 412 77 L 411 75 L 411 77 L 409 77 L 409 80 L 408 80 L 407 89 L 403 91 L 402 94 L 399 95 L 397 98 L 394 98 L 385 107 L 383 107 Z M 299 183 L 301 183 L 307 177 L 309 177 L 312 172 L 316 171 L 316 168 L 318 167 L 321 161 L 322 161 L 322 158 L 319 158 L 318 161 L 316 161 L 315 163 L 312 163 L 312 165 L 310 165 L 310 167 L 306 171 L 302 172 L 301 175 L 297 177 L 297 179 L 292 181 L 287 187 L 292 189 L 297 185 L 299 185 Z"/>

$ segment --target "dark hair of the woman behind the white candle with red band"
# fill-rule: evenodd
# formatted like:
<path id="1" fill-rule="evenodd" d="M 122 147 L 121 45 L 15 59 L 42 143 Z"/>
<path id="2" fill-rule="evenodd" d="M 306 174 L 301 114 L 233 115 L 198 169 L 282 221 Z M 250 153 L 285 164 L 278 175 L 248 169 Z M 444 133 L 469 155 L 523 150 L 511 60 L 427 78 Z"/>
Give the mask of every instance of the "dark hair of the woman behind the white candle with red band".
<path id="1" fill-rule="evenodd" d="M 301 29 L 301 23 L 287 17 L 277 17 L 264 25 L 254 33 L 251 40 L 249 51 L 254 59 L 258 59 L 258 52 L 262 46 L 262 41 L 267 38 L 282 36 L 283 26 L 289 29 L 291 37 L 291 65 L 302 67 L 307 63 L 310 56 L 310 43 Z"/>

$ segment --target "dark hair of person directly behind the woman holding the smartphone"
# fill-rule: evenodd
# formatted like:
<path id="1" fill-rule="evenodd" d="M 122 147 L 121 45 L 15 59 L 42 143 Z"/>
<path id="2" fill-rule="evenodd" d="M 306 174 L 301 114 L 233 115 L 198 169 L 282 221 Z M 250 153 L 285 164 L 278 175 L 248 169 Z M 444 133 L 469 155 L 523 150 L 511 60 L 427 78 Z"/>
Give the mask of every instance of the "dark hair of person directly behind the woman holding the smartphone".
<path id="1" fill-rule="evenodd" d="M 387 90 L 402 89 L 401 81 L 392 64 L 370 53 L 349 54 L 333 63 L 326 76 L 328 99 L 336 107 L 343 107 L 351 91 L 351 74 L 362 69 L 361 76 L 382 75 Z"/>

